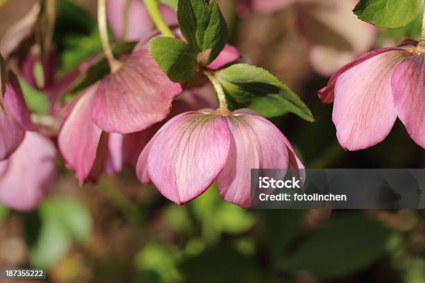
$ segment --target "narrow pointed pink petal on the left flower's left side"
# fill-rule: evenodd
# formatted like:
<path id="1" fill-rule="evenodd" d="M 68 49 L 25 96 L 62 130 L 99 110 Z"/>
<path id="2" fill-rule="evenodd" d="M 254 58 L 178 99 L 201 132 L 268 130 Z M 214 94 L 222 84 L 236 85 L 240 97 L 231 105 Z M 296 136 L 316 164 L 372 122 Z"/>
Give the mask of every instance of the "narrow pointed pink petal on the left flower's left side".
<path id="1" fill-rule="evenodd" d="M 63 123 L 58 136 L 60 152 L 70 169 L 83 183 L 88 179 L 96 160 L 102 130 L 92 122 L 91 111 L 97 85 L 81 94 Z"/>

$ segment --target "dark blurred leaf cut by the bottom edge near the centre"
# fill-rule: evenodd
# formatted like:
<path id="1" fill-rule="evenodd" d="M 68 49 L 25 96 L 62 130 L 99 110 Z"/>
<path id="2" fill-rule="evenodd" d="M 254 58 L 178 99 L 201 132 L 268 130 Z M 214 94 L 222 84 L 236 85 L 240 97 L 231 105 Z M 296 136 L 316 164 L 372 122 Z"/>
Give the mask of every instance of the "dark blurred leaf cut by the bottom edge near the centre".
<path id="1" fill-rule="evenodd" d="M 188 257 L 179 266 L 190 282 L 244 282 L 241 277 L 253 268 L 251 257 L 224 244 Z"/>

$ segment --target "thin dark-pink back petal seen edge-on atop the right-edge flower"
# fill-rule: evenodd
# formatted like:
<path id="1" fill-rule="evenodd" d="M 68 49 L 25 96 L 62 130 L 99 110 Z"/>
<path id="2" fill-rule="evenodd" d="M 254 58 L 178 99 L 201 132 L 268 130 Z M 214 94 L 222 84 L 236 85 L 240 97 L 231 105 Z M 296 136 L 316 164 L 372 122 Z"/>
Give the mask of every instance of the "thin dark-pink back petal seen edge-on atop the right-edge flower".
<path id="1" fill-rule="evenodd" d="M 349 64 L 340 67 L 340 69 L 338 69 L 337 71 L 335 71 L 335 73 L 333 73 L 333 75 L 329 79 L 328 85 L 326 85 L 326 87 L 319 90 L 318 96 L 319 96 L 320 100 L 324 104 L 329 104 L 329 103 L 333 102 L 333 100 L 335 98 L 335 94 L 334 94 L 335 83 L 338 80 L 338 78 L 341 76 L 341 74 L 343 74 L 345 71 L 347 71 L 347 70 L 349 70 L 353 67 L 356 67 L 357 65 L 359 65 L 359 64 L 365 62 L 366 60 L 369 60 L 370 58 L 373 58 L 374 56 L 379 55 L 381 53 L 385 53 L 385 52 L 388 52 L 388 51 L 402 51 L 402 50 L 403 49 L 395 48 L 395 47 L 376 49 L 374 51 L 370 51 L 370 52 L 368 52 L 364 55 L 361 55 L 359 58 L 357 58 L 353 62 L 350 62 Z"/>

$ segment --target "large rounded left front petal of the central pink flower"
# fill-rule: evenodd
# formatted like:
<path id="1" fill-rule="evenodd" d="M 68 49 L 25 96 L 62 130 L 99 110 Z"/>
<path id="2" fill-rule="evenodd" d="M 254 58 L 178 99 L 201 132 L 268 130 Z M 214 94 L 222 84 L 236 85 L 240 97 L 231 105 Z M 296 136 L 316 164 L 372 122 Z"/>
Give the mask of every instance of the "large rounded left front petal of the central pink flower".
<path id="1" fill-rule="evenodd" d="M 208 189 L 222 171 L 229 142 L 226 118 L 200 112 L 180 114 L 147 146 L 149 177 L 166 198 L 179 205 L 187 203 Z M 142 163 L 138 163 L 138 172 Z"/>

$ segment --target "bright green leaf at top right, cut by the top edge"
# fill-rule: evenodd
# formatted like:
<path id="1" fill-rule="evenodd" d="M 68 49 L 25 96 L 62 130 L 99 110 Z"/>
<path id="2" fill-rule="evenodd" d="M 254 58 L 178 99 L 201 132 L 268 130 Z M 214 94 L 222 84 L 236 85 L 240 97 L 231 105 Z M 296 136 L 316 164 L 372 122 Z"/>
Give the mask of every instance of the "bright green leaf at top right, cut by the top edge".
<path id="1" fill-rule="evenodd" d="M 417 17 L 421 0 L 360 0 L 353 12 L 379 28 L 406 26 Z"/>

